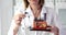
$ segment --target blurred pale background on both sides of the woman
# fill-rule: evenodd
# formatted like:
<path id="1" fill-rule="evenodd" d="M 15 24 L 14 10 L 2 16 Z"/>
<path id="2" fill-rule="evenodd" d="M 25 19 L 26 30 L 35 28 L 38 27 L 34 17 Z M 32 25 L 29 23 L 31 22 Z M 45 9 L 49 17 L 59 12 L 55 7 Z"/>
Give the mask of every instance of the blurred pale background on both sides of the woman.
<path id="1" fill-rule="evenodd" d="M 0 35 L 8 34 L 12 16 L 22 2 L 23 0 L 0 0 Z M 58 13 L 61 27 L 66 31 L 66 0 L 45 0 L 45 7 L 53 8 Z"/>

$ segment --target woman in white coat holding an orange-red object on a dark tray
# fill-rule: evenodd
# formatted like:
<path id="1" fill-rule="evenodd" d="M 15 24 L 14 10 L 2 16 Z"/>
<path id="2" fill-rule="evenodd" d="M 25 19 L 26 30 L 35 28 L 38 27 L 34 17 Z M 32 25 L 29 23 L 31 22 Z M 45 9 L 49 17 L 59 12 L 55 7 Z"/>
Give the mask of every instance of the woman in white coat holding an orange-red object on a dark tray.
<path id="1" fill-rule="evenodd" d="M 51 9 L 44 7 L 44 0 L 24 0 L 26 14 L 22 12 L 14 15 L 13 22 L 8 35 L 18 35 L 19 30 L 21 28 L 21 35 L 46 35 L 45 32 L 30 31 L 29 27 L 32 26 L 32 23 L 35 18 L 44 18 L 46 14 L 46 22 L 52 26 L 51 33 L 58 35 L 58 27 L 56 26 L 56 13 Z M 21 26 L 21 27 L 20 27 Z"/>

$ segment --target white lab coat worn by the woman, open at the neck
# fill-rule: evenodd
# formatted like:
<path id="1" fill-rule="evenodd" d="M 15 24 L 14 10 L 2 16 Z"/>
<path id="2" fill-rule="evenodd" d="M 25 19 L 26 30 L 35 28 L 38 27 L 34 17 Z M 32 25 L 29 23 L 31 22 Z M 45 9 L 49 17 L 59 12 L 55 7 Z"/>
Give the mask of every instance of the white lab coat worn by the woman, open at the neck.
<path id="1" fill-rule="evenodd" d="M 21 26 L 19 27 L 19 32 L 18 32 L 19 35 L 53 35 L 53 33 L 50 33 L 50 32 L 30 31 L 29 27 L 32 26 L 33 20 L 34 20 L 34 16 L 33 16 L 33 13 L 32 13 L 32 10 L 31 10 L 30 5 L 25 11 L 20 10 L 15 14 L 19 14 L 20 12 L 22 12 L 22 13 L 28 12 L 28 14 L 26 14 L 26 18 L 23 19 L 23 21 L 21 23 Z M 58 23 L 57 23 L 57 21 L 58 21 L 57 20 L 57 13 L 54 12 L 53 9 L 47 8 L 47 7 L 43 7 L 42 11 L 41 11 L 41 16 L 38 16 L 38 18 L 43 19 L 44 13 L 47 13 L 46 22 L 47 22 L 48 25 L 56 25 L 57 27 L 59 27 Z M 11 23 L 10 30 L 8 32 L 8 35 L 13 35 L 14 25 L 15 25 L 14 20 L 12 20 L 12 23 Z"/>

